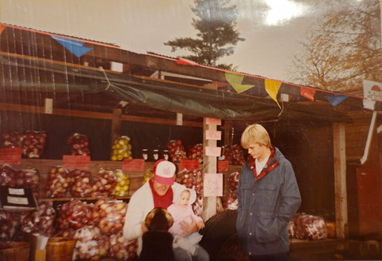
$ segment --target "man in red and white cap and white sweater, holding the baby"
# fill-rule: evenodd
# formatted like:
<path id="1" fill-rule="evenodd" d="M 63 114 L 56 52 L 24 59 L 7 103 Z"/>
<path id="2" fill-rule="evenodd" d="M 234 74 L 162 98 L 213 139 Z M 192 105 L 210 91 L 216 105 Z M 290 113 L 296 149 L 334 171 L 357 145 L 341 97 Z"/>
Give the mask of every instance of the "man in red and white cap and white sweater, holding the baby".
<path id="1" fill-rule="evenodd" d="M 142 235 L 147 231 L 145 218 L 155 207 L 167 209 L 173 203 L 175 193 L 186 189 L 184 185 L 174 182 L 176 167 L 166 160 L 159 160 L 154 165 L 154 178 L 149 179 L 131 196 L 123 235 L 128 240 L 138 239 L 138 255 L 142 250 Z M 183 222 L 182 229 L 186 235 L 197 232 L 198 227 L 192 218 L 192 223 Z M 181 248 L 174 249 L 176 261 L 205 261 L 209 260 L 208 253 L 201 247 L 196 256 L 191 256 Z"/>

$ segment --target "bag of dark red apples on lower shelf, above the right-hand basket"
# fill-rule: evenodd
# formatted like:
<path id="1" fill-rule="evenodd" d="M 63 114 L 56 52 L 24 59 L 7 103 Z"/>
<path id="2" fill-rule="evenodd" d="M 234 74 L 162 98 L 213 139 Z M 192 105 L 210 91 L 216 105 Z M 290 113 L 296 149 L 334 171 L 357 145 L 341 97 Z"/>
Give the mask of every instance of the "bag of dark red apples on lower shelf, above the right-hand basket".
<path id="1" fill-rule="evenodd" d="M 56 227 L 71 231 L 93 224 L 93 204 L 78 199 L 63 204 L 58 211 Z"/>

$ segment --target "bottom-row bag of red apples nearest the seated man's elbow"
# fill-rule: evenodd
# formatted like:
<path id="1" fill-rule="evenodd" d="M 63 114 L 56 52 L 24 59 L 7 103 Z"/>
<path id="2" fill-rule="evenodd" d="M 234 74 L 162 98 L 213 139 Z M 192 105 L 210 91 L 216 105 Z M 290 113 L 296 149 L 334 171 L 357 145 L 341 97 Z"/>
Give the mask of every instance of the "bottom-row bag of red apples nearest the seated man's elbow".
<path id="1" fill-rule="evenodd" d="M 122 260 L 135 259 L 137 250 L 137 241 L 127 240 L 121 231 L 110 236 L 109 257 Z"/>

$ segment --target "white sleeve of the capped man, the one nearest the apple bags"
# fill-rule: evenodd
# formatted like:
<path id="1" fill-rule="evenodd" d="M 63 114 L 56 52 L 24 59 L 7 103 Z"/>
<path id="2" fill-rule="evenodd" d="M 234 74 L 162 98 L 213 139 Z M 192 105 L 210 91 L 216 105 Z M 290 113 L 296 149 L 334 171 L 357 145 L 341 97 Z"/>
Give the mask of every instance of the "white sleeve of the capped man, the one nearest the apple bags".
<path id="1" fill-rule="evenodd" d="M 129 201 L 125 224 L 123 226 L 123 236 L 127 240 L 133 240 L 142 237 L 142 220 L 144 219 L 144 202 L 140 200 L 140 193 L 136 191 Z"/>

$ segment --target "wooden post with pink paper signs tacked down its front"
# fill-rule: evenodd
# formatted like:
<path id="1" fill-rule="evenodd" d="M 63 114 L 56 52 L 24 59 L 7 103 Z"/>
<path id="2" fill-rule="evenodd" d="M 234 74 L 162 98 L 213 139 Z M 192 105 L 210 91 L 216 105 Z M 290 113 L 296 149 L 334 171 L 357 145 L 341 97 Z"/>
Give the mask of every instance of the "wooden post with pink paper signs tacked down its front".
<path id="1" fill-rule="evenodd" d="M 216 125 L 209 125 L 203 119 L 203 174 L 216 173 L 216 157 L 205 156 L 205 147 L 216 147 L 216 140 L 206 140 L 206 130 L 216 130 Z M 216 214 L 216 197 L 203 197 L 203 219 L 204 222 Z"/>

